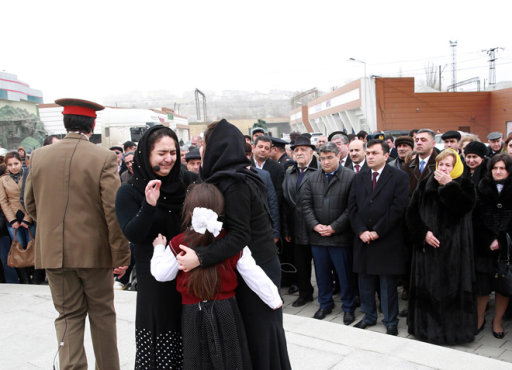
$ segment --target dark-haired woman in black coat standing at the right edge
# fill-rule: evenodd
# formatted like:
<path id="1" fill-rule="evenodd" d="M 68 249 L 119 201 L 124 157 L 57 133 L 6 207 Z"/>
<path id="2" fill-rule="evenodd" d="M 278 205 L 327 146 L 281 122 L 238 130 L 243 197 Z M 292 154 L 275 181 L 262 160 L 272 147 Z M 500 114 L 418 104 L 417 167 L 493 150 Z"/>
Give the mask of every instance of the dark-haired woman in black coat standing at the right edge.
<path id="1" fill-rule="evenodd" d="M 507 258 L 507 234 L 512 236 L 512 158 L 505 153 L 491 158 L 489 173 L 477 188 L 474 212 L 476 282 L 479 333 L 485 326 L 485 308 L 489 294 L 495 291 L 498 258 Z M 492 333 L 505 336 L 501 319 L 509 297 L 495 292 L 495 310 Z"/>

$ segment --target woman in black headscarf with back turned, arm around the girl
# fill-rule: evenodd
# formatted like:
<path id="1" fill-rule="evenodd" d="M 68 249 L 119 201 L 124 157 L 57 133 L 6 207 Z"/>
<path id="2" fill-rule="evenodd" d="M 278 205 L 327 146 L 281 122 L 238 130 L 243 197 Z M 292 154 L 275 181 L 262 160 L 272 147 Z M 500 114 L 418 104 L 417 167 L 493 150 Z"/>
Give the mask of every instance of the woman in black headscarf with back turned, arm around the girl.
<path id="1" fill-rule="evenodd" d="M 222 120 L 210 124 L 205 132 L 201 178 L 215 184 L 224 195 L 223 239 L 208 246 L 187 248 L 178 256 L 180 268 L 217 264 L 234 256 L 247 245 L 256 263 L 276 286 L 281 269 L 273 241 L 270 212 L 263 182 L 248 169 L 245 139 L 240 130 Z M 254 369 L 290 369 L 282 309 L 271 310 L 239 279 L 236 297 L 247 332 Z"/>

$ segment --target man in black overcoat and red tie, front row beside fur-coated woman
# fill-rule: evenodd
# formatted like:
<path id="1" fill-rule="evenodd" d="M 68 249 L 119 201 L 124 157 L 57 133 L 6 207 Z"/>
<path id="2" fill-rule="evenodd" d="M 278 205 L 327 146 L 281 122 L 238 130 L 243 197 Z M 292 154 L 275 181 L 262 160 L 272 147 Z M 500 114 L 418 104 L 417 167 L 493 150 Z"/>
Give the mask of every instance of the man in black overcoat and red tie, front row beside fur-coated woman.
<path id="1" fill-rule="evenodd" d="M 407 175 L 389 165 L 389 145 L 368 143 L 368 169 L 354 178 L 349 208 L 354 242 L 354 272 L 359 274 L 359 294 L 364 317 L 355 327 L 377 323 L 375 289 L 380 283 L 383 323 L 387 333 L 398 334 L 397 280 L 405 273 L 404 214 Z"/>

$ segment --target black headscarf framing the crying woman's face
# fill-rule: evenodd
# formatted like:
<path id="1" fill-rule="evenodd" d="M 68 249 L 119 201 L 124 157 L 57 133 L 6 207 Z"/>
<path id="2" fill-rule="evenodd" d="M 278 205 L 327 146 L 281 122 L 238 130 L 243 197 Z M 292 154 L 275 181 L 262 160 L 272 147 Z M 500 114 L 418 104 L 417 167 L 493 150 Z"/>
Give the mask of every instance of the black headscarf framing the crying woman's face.
<path id="1" fill-rule="evenodd" d="M 149 163 L 151 148 L 149 147 L 148 139 L 149 136 L 157 130 L 166 130 L 168 136 L 170 136 L 176 144 L 176 162 L 171 172 L 164 177 L 154 173 Z M 128 180 L 128 183 L 144 194 L 149 181 L 161 180 L 162 186 L 160 187 L 160 197 L 158 198 L 157 206 L 166 210 L 179 210 L 183 206 L 186 191 L 185 185 L 183 184 L 180 158 L 178 137 L 174 131 L 162 125 L 153 126 L 147 129 L 140 138 L 137 150 L 133 156 L 133 176 Z"/>

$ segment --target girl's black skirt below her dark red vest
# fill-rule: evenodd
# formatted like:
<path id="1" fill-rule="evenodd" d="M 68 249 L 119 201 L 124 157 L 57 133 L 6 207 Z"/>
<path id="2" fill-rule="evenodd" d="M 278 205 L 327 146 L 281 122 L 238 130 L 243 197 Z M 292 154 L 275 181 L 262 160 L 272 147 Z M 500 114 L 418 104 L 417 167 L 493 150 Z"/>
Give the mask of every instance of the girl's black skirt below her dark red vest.
<path id="1" fill-rule="evenodd" d="M 251 369 L 235 297 L 183 305 L 181 325 L 185 369 Z"/>

